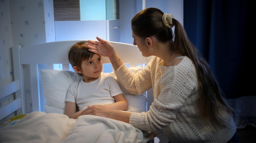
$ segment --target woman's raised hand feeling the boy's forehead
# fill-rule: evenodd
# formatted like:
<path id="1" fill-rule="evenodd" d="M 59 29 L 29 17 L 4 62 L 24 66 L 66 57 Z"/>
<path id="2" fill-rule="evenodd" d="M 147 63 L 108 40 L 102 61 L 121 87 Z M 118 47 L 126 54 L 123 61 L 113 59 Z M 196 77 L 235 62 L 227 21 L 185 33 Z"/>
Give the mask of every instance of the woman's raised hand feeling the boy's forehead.
<path id="1" fill-rule="evenodd" d="M 99 41 L 88 40 L 88 43 L 85 43 L 89 48 L 90 52 L 94 52 L 95 54 L 99 54 L 101 56 L 110 57 L 114 53 L 115 49 L 111 43 L 106 40 L 103 40 L 99 37 L 96 37 Z"/>

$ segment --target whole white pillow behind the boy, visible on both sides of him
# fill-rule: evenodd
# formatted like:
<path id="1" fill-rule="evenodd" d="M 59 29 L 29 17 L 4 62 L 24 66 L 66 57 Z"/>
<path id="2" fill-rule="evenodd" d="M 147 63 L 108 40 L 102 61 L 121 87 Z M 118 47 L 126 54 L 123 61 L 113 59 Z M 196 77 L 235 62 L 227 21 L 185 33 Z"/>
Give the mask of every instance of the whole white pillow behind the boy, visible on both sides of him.
<path id="1" fill-rule="evenodd" d="M 135 73 L 141 69 L 141 66 L 130 67 L 130 70 Z M 76 72 L 51 69 L 41 69 L 40 74 L 42 78 L 43 93 L 46 100 L 45 113 L 64 114 L 67 90 L 74 81 L 80 80 L 81 76 L 76 74 Z M 114 72 L 105 74 L 110 74 L 111 76 L 116 78 Z M 119 85 L 121 90 L 124 92 L 124 95 L 128 102 L 128 109 L 126 111 L 146 111 L 146 92 L 142 93 L 141 95 L 132 95 L 129 94 L 124 89 L 124 87 L 121 86 L 121 84 Z"/>

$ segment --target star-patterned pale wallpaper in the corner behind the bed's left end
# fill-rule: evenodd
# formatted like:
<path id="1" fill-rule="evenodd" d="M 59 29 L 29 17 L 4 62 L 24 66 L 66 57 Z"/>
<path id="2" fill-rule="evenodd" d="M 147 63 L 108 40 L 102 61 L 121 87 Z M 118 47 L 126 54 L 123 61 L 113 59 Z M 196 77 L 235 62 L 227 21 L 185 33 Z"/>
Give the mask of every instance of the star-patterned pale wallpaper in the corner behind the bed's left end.
<path id="1" fill-rule="evenodd" d="M 53 0 L 0 0 L 0 86 L 13 81 L 12 45 L 27 47 L 51 41 L 55 41 Z M 30 91 L 25 85 L 27 113 L 32 110 Z M 0 107 L 13 98 L 1 99 Z"/>

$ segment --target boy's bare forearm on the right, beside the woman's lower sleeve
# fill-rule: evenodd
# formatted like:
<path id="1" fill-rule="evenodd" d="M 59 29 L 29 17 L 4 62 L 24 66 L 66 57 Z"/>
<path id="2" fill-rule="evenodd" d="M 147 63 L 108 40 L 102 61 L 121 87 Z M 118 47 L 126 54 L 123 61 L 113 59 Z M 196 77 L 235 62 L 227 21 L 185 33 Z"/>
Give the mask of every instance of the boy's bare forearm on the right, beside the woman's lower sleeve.
<path id="1" fill-rule="evenodd" d="M 118 94 L 116 96 L 113 97 L 115 99 L 115 103 L 112 104 L 106 104 L 104 105 L 107 108 L 110 109 L 115 109 L 115 110 L 122 110 L 122 111 L 126 111 L 128 108 L 128 103 L 126 98 L 124 97 L 124 94 Z"/>

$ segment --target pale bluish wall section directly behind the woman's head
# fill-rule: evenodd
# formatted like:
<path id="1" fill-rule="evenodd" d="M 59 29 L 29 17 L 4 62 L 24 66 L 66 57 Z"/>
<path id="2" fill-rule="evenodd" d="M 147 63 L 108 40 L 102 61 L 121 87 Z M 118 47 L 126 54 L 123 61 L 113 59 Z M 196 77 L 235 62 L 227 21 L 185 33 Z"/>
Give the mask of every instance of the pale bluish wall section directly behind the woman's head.
<path id="1" fill-rule="evenodd" d="M 143 0 L 119 0 L 120 3 L 120 41 L 133 44 L 130 21 L 142 10 Z M 156 7 L 164 13 L 172 13 L 183 25 L 183 0 L 146 0 L 146 8 Z"/>

